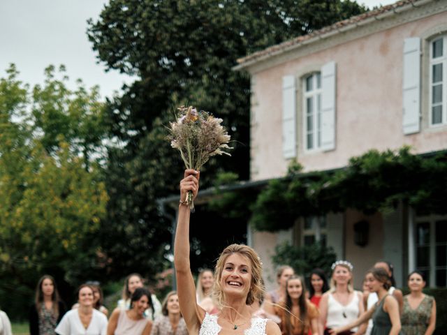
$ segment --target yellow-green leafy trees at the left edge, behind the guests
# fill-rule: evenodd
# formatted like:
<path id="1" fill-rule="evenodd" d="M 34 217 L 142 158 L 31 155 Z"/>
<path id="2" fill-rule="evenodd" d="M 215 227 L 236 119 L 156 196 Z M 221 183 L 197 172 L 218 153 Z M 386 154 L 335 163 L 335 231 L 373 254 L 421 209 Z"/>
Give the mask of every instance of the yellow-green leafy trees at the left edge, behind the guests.
<path id="1" fill-rule="evenodd" d="M 19 317 L 42 274 L 77 285 L 101 267 L 96 233 L 108 195 L 98 163 L 82 155 L 98 142 L 71 129 L 101 116 L 95 91 L 71 92 L 51 67 L 31 94 L 15 66 L 7 73 L 0 80 L 0 283 L 1 291 L 24 294 L 0 301 Z"/>

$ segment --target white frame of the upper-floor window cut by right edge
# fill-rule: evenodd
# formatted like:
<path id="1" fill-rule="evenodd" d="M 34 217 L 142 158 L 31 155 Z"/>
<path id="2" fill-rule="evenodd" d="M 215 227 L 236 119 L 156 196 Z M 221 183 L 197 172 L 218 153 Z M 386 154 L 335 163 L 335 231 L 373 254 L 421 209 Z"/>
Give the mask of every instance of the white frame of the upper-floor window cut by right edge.
<path id="1" fill-rule="evenodd" d="M 436 40 L 439 40 L 442 38 L 442 57 L 438 57 L 437 59 L 433 59 L 433 43 Z M 441 123 L 439 124 L 433 124 L 433 66 L 437 64 L 442 64 L 442 114 L 441 114 Z M 439 126 L 446 126 L 447 125 L 447 35 L 433 38 L 430 41 L 430 68 L 429 68 L 429 120 L 430 120 L 430 127 L 439 127 Z"/>

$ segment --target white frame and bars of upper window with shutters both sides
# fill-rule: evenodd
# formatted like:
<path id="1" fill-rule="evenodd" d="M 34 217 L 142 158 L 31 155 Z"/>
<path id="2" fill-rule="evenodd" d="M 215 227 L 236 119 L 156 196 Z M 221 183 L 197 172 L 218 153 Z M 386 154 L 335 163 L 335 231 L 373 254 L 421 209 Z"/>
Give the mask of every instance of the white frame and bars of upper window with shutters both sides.
<path id="1" fill-rule="evenodd" d="M 315 87 L 317 82 L 317 77 L 320 77 L 320 87 Z M 312 91 L 307 91 L 307 78 L 312 77 Z M 315 152 L 315 151 L 322 151 L 321 148 L 321 96 L 323 93 L 322 85 L 321 85 L 321 72 L 317 71 L 314 73 L 309 73 L 302 77 L 302 136 L 303 136 L 303 143 L 304 150 L 306 153 L 309 152 Z M 313 147 L 309 149 L 309 143 L 307 142 L 307 98 L 312 98 L 312 121 L 313 121 L 313 127 L 312 127 L 312 141 L 313 141 Z M 318 99 L 319 99 L 319 110 L 318 110 Z M 319 118 L 319 123 L 318 123 Z M 318 139 L 319 135 L 319 139 Z"/>

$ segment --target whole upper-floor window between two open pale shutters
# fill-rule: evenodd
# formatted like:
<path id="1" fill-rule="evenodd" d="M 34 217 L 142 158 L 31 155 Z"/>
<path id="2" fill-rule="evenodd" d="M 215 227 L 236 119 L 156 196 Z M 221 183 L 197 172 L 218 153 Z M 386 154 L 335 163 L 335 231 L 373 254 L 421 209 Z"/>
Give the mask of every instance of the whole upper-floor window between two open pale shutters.
<path id="1" fill-rule="evenodd" d="M 305 148 L 321 148 L 321 73 L 313 73 L 303 80 L 303 116 Z"/>

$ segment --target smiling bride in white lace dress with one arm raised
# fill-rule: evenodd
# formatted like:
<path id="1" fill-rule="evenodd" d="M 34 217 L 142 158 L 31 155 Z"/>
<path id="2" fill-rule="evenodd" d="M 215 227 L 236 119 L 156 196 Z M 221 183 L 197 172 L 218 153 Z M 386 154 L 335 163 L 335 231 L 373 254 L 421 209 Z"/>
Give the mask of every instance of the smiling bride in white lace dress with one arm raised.
<path id="1" fill-rule="evenodd" d="M 214 295 L 221 311 L 210 315 L 198 306 L 196 288 L 189 262 L 189 218 L 186 204 L 189 191 L 196 198 L 199 172 L 186 170 L 180 182 L 180 203 L 175 234 L 174 262 L 180 311 L 189 334 L 195 335 L 280 335 L 281 331 L 271 320 L 253 318 L 251 304 L 263 295 L 262 265 L 256 252 L 249 246 L 232 244 L 226 247 L 217 260 L 214 271 Z"/>

